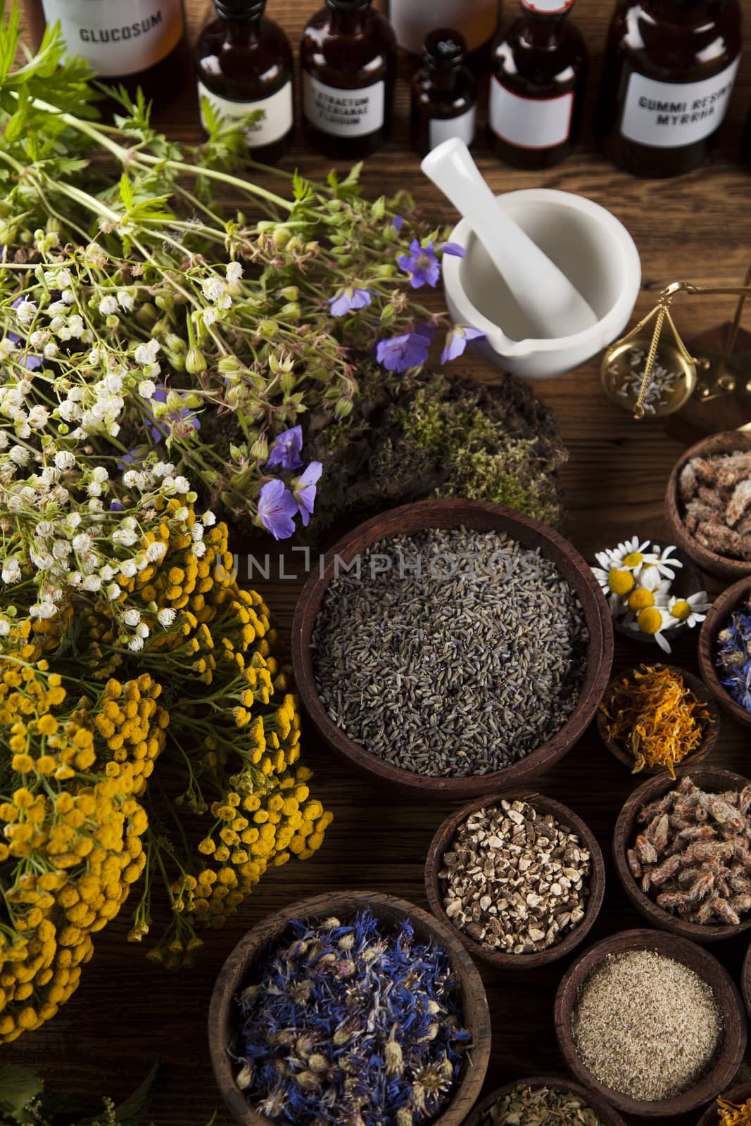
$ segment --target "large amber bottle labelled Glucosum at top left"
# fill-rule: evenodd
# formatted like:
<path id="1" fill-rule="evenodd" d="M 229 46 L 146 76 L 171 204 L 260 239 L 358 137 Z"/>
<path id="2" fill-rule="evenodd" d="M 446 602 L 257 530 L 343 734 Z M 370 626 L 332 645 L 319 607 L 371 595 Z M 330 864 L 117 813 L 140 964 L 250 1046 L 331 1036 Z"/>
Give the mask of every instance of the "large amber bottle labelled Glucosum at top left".
<path id="1" fill-rule="evenodd" d="M 141 87 L 157 108 L 190 77 L 182 0 L 26 0 L 26 14 L 37 46 L 59 20 L 72 55 L 110 84 Z"/>

